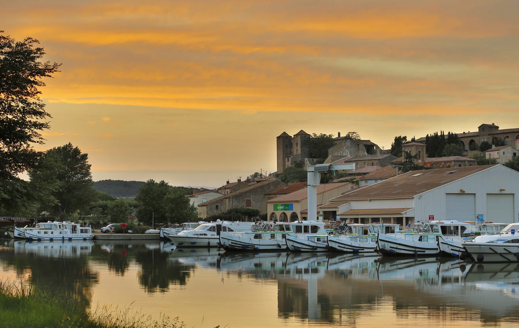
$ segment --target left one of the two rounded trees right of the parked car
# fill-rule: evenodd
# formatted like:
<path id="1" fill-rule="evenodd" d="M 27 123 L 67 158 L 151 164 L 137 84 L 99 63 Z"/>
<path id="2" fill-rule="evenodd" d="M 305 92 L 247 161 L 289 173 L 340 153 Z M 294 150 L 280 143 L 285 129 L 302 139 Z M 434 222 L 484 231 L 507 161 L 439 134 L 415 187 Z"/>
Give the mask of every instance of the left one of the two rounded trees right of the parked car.
<path id="1" fill-rule="evenodd" d="M 137 210 L 139 222 L 151 225 L 152 218 L 156 223 L 168 222 L 164 198 L 168 194 L 169 188 L 169 184 L 163 180 L 160 182 L 155 182 L 153 179 L 146 181 L 139 189 L 139 195 L 135 197 L 140 204 Z"/>

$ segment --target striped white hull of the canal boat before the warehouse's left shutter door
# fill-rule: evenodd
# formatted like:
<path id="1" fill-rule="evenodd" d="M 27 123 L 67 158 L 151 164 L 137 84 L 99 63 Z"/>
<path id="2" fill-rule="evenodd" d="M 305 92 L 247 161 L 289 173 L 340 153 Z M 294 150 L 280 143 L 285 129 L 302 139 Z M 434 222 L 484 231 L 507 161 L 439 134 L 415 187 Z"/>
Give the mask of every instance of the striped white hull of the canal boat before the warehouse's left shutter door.
<path id="1" fill-rule="evenodd" d="M 379 252 L 384 256 L 434 256 L 438 254 L 436 243 L 404 239 L 381 233 L 378 233 L 377 245 Z"/>

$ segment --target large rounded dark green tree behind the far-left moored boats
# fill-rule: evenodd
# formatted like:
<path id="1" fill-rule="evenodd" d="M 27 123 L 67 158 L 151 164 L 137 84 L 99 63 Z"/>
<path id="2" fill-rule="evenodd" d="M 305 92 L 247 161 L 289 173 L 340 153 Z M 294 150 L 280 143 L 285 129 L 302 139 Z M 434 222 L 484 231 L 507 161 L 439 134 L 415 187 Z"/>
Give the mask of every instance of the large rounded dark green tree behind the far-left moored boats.
<path id="1" fill-rule="evenodd" d="M 29 171 L 31 183 L 57 182 L 51 192 L 57 202 L 51 206 L 42 204 L 42 209 L 59 216 L 61 220 L 78 210 L 88 209 L 97 199 L 92 188 L 90 167 L 88 154 L 81 153 L 70 142 L 45 152 L 38 166 Z"/>

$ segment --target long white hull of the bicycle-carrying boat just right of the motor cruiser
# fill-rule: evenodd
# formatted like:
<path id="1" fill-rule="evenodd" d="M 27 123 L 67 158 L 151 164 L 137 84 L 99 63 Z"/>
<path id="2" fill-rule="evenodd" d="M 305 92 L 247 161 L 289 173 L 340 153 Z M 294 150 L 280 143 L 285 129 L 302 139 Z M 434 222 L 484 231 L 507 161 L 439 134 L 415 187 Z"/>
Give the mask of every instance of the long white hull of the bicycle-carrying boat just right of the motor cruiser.
<path id="1" fill-rule="evenodd" d="M 222 248 L 230 252 L 247 252 L 247 251 L 263 251 L 273 252 L 280 250 L 288 250 L 284 240 L 278 239 L 254 239 L 249 235 L 240 236 L 238 234 L 220 234 L 220 244 Z M 252 235 L 253 236 L 253 235 Z"/>

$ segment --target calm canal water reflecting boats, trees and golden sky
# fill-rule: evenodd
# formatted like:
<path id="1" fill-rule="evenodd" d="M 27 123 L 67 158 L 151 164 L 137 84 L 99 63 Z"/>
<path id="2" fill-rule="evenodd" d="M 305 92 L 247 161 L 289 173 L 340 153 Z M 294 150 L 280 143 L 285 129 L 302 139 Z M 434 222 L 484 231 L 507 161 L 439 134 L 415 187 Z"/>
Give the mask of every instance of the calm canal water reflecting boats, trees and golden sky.
<path id="1" fill-rule="evenodd" d="M 131 304 L 179 316 L 188 327 L 519 325 L 517 264 L 0 240 L 0 279 L 66 293 L 86 307 Z"/>

